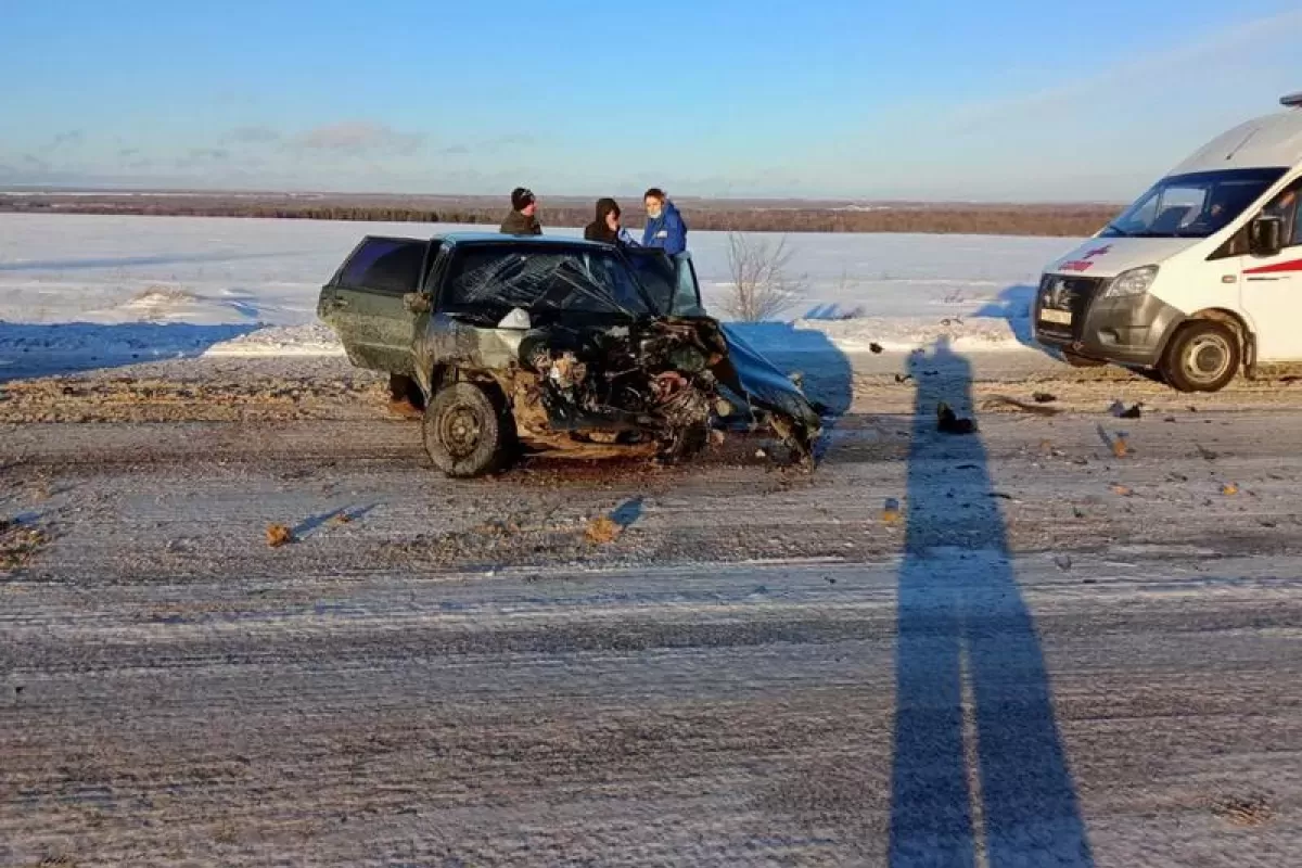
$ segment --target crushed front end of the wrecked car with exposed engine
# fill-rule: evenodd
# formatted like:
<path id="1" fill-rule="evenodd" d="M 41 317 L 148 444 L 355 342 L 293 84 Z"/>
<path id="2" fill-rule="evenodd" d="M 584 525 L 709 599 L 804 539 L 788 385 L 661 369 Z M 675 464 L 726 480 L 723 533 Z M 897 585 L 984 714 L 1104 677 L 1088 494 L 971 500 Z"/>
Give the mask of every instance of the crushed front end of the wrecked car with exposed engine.
<path id="1" fill-rule="evenodd" d="M 793 458 L 812 455 L 822 419 L 810 401 L 716 320 L 667 315 L 641 286 L 620 297 L 564 265 L 527 284 L 508 267 L 486 267 L 430 318 L 415 342 L 427 394 L 450 372 L 495 384 L 535 452 L 677 461 L 768 426 Z"/>

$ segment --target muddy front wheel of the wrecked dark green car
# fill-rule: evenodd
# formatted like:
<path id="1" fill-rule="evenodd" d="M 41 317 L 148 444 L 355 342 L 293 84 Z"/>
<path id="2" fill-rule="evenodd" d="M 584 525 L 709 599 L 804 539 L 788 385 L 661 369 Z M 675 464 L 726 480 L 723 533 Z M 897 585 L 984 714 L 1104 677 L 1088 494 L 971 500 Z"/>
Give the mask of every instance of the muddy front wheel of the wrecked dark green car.
<path id="1" fill-rule="evenodd" d="M 424 450 L 448 476 L 492 474 L 506 466 L 516 426 L 506 402 L 493 388 L 453 383 L 424 411 Z"/>

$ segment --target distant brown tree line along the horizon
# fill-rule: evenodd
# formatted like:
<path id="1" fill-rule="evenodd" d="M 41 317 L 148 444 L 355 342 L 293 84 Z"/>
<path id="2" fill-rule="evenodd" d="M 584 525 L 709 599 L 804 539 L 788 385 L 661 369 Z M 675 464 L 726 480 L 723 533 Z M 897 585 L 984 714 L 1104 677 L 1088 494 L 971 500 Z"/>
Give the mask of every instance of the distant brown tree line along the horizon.
<path id="1" fill-rule="evenodd" d="M 682 206 L 697 230 L 717 232 L 880 232 L 993 236 L 1090 236 L 1117 213 L 1103 204 L 900 204 L 872 210 L 831 207 L 729 207 L 710 202 L 699 210 Z M 3 195 L 0 211 L 26 213 L 152 215 L 182 217 L 264 217 L 277 220 L 358 220 L 376 223 L 458 223 L 497 225 L 505 216 L 500 207 L 427 207 L 387 203 L 259 202 L 221 199 L 197 194 L 185 197 L 130 198 Z M 544 208 L 544 226 L 582 226 L 592 219 L 587 206 Z M 625 223 L 639 225 L 642 215 L 626 211 Z"/>

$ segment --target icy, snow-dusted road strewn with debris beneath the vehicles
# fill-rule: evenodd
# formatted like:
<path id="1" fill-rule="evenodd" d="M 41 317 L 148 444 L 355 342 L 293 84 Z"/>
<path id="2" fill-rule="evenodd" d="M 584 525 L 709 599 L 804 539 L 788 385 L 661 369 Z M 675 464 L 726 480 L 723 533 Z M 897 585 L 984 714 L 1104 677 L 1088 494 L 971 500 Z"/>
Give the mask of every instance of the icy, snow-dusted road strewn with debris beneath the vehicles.
<path id="1" fill-rule="evenodd" d="M 958 359 L 853 376 L 811 475 L 737 442 L 452 483 L 374 380 L 302 364 L 5 387 L 0 864 L 1302 851 L 1292 381 Z M 1062 411 L 1000 402 L 1032 388 Z"/>

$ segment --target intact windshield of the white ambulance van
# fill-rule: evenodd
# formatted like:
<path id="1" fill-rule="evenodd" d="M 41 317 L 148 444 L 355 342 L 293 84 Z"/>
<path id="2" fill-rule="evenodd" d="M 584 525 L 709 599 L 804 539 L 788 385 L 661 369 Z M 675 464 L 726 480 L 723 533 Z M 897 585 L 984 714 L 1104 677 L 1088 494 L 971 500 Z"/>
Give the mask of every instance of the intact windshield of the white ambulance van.
<path id="1" fill-rule="evenodd" d="M 1206 238 L 1284 177 L 1284 169 L 1226 169 L 1163 178 L 1100 233 L 1105 238 Z"/>

